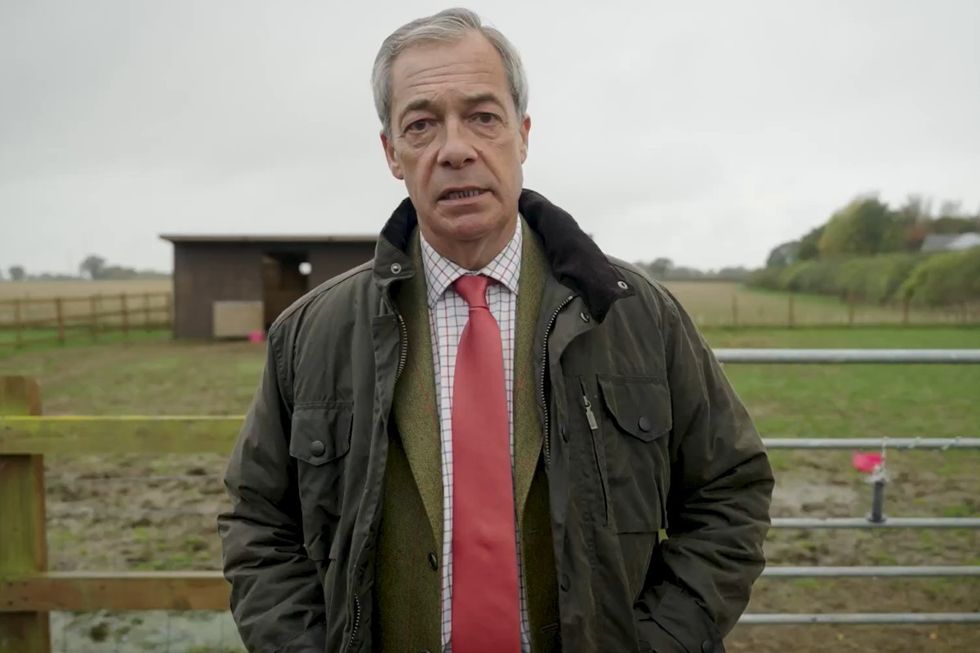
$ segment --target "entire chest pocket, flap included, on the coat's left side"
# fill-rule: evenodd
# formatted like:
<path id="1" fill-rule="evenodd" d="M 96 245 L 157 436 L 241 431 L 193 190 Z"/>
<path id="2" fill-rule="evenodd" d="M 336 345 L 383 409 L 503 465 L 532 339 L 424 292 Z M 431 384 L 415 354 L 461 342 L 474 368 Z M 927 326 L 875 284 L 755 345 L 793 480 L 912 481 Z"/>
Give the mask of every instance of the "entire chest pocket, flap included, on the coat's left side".
<path id="1" fill-rule="evenodd" d="M 326 557 L 340 518 L 352 425 L 350 404 L 293 411 L 289 455 L 296 463 L 304 544 L 314 560 Z"/>

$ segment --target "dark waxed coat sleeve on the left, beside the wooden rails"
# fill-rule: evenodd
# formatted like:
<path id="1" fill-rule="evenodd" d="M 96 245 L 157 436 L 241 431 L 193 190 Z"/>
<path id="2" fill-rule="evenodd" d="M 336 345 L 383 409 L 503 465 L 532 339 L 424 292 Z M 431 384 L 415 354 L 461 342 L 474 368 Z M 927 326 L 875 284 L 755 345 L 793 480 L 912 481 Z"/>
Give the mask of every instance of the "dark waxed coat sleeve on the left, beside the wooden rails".
<path id="1" fill-rule="evenodd" d="M 325 649 L 323 589 L 303 548 L 290 410 L 275 329 L 262 381 L 225 473 L 231 509 L 218 517 L 231 610 L 249 651 Z"/>

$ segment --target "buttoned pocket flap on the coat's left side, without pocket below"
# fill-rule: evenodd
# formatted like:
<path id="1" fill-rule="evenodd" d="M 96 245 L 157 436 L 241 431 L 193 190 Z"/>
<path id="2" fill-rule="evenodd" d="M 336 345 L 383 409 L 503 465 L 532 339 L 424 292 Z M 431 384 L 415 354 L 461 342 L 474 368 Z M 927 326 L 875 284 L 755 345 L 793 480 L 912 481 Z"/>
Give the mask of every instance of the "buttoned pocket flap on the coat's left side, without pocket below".
<path id="1" fill-rule="evenodd" d="M 350 451 L 353 411 L 349 405 L 297 408 L 293 412 L 289 455 L 319 466 Z"/>

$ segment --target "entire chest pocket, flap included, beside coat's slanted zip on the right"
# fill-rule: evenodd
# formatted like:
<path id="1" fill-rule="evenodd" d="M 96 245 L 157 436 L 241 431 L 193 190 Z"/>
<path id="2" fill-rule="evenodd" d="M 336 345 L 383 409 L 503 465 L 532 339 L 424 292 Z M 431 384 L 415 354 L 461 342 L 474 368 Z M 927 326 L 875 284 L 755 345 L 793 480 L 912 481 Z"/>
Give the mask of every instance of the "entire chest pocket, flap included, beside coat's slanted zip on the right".
<path id="1" fill-rule="evenodd" d="M 619 533 L 666 528 L 670 485 L 670 391 L 649 377 L 600 375 L 611 526 Z"/>

